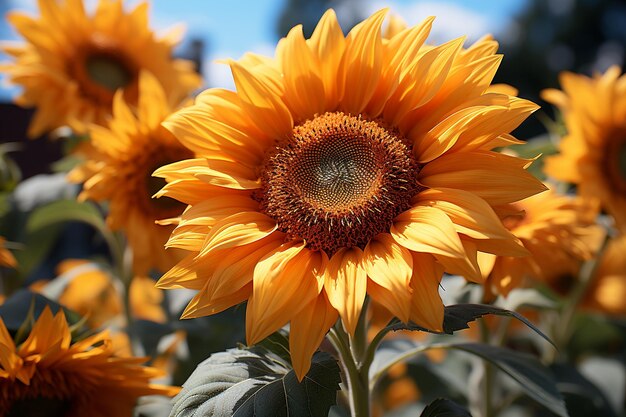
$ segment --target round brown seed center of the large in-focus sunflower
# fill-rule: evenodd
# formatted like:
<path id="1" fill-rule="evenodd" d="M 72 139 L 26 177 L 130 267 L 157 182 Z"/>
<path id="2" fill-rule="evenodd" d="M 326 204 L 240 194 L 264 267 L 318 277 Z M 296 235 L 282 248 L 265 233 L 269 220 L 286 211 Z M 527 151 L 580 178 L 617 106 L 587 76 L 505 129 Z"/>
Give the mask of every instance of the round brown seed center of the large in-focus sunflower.
<path id="1" fill-rule="evenodd" d="M 389 231 L 421 189 L 411 146 L 382 122 L 325 113 L 267 156 L 256 198 L 292 239 L 332 256 Z"/>

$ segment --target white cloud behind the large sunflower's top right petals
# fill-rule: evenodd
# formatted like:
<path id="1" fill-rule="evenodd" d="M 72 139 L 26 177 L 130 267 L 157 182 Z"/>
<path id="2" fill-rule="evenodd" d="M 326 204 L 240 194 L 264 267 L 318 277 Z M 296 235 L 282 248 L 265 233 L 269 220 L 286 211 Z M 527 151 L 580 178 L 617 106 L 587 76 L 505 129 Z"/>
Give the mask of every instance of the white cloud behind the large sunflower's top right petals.
<path id="1" fill-rule="evenodd" d="M 486 16 L 455 3 L 445 1 L 421 1 L 400 4 L 394 1 L 372 1 L 368 12 L 373 13 L 383 7 L 390 7 L 391 13 L 402 17 L 410 26 L 420 23 L 428 16 L 436 16 L 433 29 L 428 38 L 431 44 L 441 44 L 467 35 L 472 42 L 487 33 L 495 32 L 498 27 Z"/>

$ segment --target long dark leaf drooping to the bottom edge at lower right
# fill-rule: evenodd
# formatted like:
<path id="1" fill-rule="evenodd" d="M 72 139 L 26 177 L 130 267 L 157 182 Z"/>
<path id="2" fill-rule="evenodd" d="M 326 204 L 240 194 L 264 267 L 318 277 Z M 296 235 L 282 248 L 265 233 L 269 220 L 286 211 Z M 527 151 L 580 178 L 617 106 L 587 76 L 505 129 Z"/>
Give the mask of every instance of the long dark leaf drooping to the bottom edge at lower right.
<path id="1" fill-rule="evenodd" d="M 537 358 L 511 349 L 479 343 L 455 343 L 449 349 L 461 350 L 494 364 L 519 382 L 528 396 L 558 416 L 568 417 L 554 375 Z"/>

